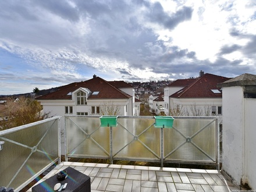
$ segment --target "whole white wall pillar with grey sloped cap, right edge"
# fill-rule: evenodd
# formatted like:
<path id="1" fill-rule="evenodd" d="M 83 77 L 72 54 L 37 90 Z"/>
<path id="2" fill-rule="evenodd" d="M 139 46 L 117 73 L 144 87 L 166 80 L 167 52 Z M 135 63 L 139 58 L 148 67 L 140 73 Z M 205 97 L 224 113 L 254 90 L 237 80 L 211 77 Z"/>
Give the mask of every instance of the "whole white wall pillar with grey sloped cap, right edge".
<path id="1" fill-rule="evenodd" d="M 222 170 L 238 186 L 256 190 L 256 76 L 243 74 L 219 87 L 223 106 Z"/>

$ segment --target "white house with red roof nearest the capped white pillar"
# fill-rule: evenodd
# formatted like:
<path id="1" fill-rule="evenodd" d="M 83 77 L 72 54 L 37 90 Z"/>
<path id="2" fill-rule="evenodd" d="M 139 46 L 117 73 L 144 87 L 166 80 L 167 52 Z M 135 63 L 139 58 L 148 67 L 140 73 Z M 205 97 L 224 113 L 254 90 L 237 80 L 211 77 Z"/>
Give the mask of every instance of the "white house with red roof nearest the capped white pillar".
<path id="1" fill-rule="evenodd" d="M 195 79 L 173 81 L 164 89 L 165 113 L 182 108 L 184 115 L 222 115 L 222 90 L 217 84 L 229 79 L 201 71 Z"/>

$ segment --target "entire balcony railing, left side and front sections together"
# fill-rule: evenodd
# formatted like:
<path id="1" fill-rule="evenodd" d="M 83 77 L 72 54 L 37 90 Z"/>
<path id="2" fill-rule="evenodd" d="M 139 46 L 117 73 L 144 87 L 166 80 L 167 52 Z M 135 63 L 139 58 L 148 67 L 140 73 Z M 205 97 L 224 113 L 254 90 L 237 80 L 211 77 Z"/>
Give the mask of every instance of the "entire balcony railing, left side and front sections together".
<path id="1" fill-rule="evenodd" d="M 101 127 L 99 116 L 65 116 L 0 131 L 0 186 L 23 189 L 53 163 L 100 158 L 163 163 L 200 163 L 219 169 L 218 117 L 174 117 L 172 128 L 156 128 L 154 116 L 118 116 L 116 127 Z M 61 147 L 65 150 L 61 150 Z M 63 149 L 62 148 L 62 149 Z"/>

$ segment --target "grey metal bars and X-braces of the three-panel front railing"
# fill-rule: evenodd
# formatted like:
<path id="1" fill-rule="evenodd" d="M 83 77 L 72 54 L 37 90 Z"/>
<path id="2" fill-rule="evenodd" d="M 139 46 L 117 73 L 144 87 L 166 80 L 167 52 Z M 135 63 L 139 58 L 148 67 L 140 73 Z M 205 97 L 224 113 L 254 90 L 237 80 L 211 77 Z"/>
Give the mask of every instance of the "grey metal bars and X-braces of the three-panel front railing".
<path id="1" fill-rule="evenodd" d="M 76 116 L 76 115 L 66 115 L 65 117 L 65 122 L 66 119 L 70 117 L 81 117 L 81 116 Z M 100 116 L 82 116 L 83 118 L 99 118 Z M 154 116 L 118 116 L 118 119 L 154 119 Z M 93 138 L 91 138 L 91 135 L 93 133 L 95 133 L 95 131 L 97 131 L 99 127 L 97 127 L 97 129 L 95 129 L 93 131 L 93 133 L 88 134 L 86 133 L 86 131 L 84 131 L 79 125 L 76 124 L 76 122 L 74 122 L 72 119 L 70 119 L 78 129 L 80 129 L 81 131 L 83 131 L 84 134 L 86 134 L 86 137 L 84 138 L 84 140 L 86 139 L 90 139 L 91 141 L 93 141 L 93 143 L 95 143 L 102 151 L 104 151 L 104 153 L 108 156 L 108 157 L 92 157 L 90 155 L 84 155 L 83 157 L 81 157 L 80 155 L 71 155 L 71 154 L 67 154 L 67 157 L 79 157 L 79 158 L 102 158 L 102 159 L 109 159 L 111 163 L 113 163 L 113 160 L 129 160 L 129 161 L 149 161 L 149 162 L 160 162 L 161 163 L 161 167 L 163 167 L 163 163 L 164 162 L 176 162 L 176 163 L 191 163 L 191 164 L 206 164 L 206 165 L 215 165 L 217 169 L 219 169 L 219 126 L 218 126 L 218 117 L 216 116 L 207 116 L 207 117 L 198 117 L 198 116 L 175 116 L 175 119 L 212 119 L 211 122 L 207 123 L 207 125 L 205 125 L 204 127 L 201 127 L 200 130 L 198 130 L 197 132 L 195 132 L 192 136 L 190 137 L 186 137 L 184 136 L 184 134 L 182 134 L 179 130 L 176 129 L 176 127 L 173 127 L 173 130 L 177 131 L 182 137 L 184 137 L 184 142 L 182 144 L 180 144 L 178 147 L 176 147 L 174 150 L 170 151 L 167 155 L 164 155 L 164 131 L 163 129 L 165 128 L 158 128 L 160 130 L 160 156 L 158 154 L 155 154 L 154 151 L 152 151 L 146 144 L 143 143 L 143 141 L 141 141 L 138 137 L 140 137 L 143 133 L 145 133 L 145 131 L 147 131 L 148 129 L 150 129 L 154 124 L 148 126 L 147 128 L 145 128 L 145 130 L 143 130 L 140 134 L 135 135 L 133 133 L 131 133 L 128 129 L 126 129 L 125 126 L 123 126 L 120 122 L 119 126 L 122 127 L 123 129 L 125 129 L 127 131 L 127 133 L 131 134 L 131 136 L 133 136 L 133 140 L 131 140 L 129 143 L 127 143 L 124 147 L 122 147 L 119 151 L 117 151 L 115 154 L 113 154 L 113 133 L 112 133 L 112 127 L 109 127 L 109 146 L 110 146 L 110 151 L 106 151 L 101 145 L 99 145 L 97 143 L 97 141 L 95 141 Z M 216 158 L 213 159 L 211 158 L 207 152 L 205 152 L 204 150 L 202 150 L 200 147 L 197 146 L 197 144 L 195 144 L 193 142 L 193 138 L 195 136 L 197 136 L 197 134 L 201 133 L 201 131 L 203 131 L 205 128 L 207 128 L 209 125 L 211 125 L 212 123 L 216 123 L 215 124 L 215 154 L 216 154 Z M 67 127 L 66 127 L 67 129 Z M 83 143 L 84 140 L 81 142 Z M 145 148 L 147 148 L 148 151 L 150 151 L 155 157 L 156 159 L 134 159 L 134 158 L 115 158 L 115 156 L 122 151 L 124 148 L 126 148 L 129 144 L 131 144 L 134 140 L 140 142 L 140 144 L 142 144 Z M 67 142 L 67 139 L 66 139 Z M 211 161 L 186 161 L 186 160 L 170 160 L 170 159 L 166 159 L 168 158 L 173 152 L 177 151 L 180 147 L 182 147 L 184 144 L 186 143 L 190 143 L 192 145 L 194 145 L 195 148 L 197 148 L 199 151 L 202 152 L 202 154 L 206 155 L 209 159 L 211 159 Z M 67 144 L 66 144 L 67 146 Z M 78 145 L 79 146 L 79 145 Z M 76 146 L 76 147 L 78 147 Z M 73 150 L 75 150 L 76 148 L 74 148 Z M 67 148 L 66 148 L 67 150 Z M 71 151 L 73 151 L 71 150 Z M 67 158 L 66 158 L 67 161 Z"/>

